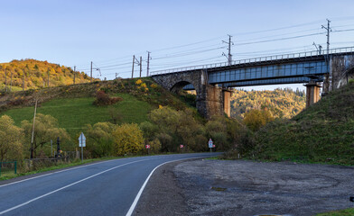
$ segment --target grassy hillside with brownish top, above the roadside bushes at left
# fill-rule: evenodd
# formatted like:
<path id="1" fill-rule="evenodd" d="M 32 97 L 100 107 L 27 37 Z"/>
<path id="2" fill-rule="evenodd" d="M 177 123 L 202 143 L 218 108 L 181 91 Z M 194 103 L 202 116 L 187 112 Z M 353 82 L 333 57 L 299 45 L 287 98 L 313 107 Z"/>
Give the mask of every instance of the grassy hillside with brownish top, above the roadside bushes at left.
<path id="1" fill-rule="evenodd" d="M 169 105 L 176 110 L 188 106 L 179 97 L 170 94 L 149 79 L 122 79 L 93 84 L 67 85 L 0 96 L 0 116 L 11 116 L 17 126 L 23 120 L 32 120 L 35 98 L 38 98 L 37 113 L 50 114 L 58 119 L 60 127 L 75 137 L 86 124 L 113 122 L 112 113 L 121 116 L 118 123 L 140 123 L 147 114 L 159 105 Z M 138 84 L 136 84 L 138 83 Z M 142 87 L 144 86 L 144 88 Z M 93 104 L 98 90 L 123 100 L 113 105 Z"/>

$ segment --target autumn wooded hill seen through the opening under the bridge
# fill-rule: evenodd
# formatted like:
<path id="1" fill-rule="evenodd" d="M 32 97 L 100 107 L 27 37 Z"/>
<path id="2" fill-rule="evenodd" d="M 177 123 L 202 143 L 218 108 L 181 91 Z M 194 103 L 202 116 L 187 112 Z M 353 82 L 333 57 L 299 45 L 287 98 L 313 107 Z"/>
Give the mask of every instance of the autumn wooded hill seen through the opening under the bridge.
<path id="1" fill-rule="evenodd" d="M 304 91 L 290 88 L 275 91 L 244 91 L 235 89 L 231 96 L 231 116 L 244 117 L 250 110 L 267 109 L 273 116 L 279 118 L 292 118 L 301 112 L 306 105 Z"/>

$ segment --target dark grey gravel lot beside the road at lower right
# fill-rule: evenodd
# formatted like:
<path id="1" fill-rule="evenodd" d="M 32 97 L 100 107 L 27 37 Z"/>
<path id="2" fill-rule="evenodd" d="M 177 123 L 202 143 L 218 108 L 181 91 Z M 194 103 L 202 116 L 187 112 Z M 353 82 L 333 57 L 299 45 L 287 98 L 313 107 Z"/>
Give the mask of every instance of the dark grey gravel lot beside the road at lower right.
<path id="1" fill-rule="evenodd" d="M 352 166 L 203 159 L 156 171 L 136 215 L 303 216 L 354 207 Z"/>

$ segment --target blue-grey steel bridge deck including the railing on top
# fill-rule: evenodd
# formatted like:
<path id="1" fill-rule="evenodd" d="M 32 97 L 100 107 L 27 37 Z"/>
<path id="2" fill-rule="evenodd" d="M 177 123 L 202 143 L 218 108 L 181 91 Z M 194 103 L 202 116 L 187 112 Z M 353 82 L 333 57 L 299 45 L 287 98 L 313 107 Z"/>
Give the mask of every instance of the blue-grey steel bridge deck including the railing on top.
<path id="1" fill-rule="evenodd" d="M 222 84 L 228 87 L 247 85 L 275 85 L 308 83 L 310 80 L 323 81 L 323 75 L 329 73 L 327 58 L 333 56 L 354 56 L 354 47 L 330 49 L 329 55 L 319 55 L 317 51 L 248 58 L 228 62 L 180 67 L 152 72 L 152 76 L 163 74 L 205 70 L 210 84 Z M 191 88 L 188 87 L 187 88 Z"/>

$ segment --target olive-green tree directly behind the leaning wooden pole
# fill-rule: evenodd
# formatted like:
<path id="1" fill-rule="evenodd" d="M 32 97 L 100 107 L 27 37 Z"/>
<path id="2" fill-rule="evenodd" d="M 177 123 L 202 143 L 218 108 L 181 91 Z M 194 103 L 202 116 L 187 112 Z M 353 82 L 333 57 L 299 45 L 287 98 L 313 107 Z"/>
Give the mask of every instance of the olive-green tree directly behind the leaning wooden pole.
<path id="1" fill-rule="evenodd" d="M 21 122 L 21 128 L 24 131 L 24 139 L 26 149 L 31 148 L 33 121 L 24 120 Z M 65 129 L 59 128 L 57 119 L 51 115 L 44 115 L 38 113 L 34 123 L 34 136 L 33 136 L 33 152 L 36 156 L 37 148 L 43 148 L 45 144 L 49 144 L 52 140 L 57 138 L 61 139 L 61 143 L 70 139 L 69 134 Z"/>

